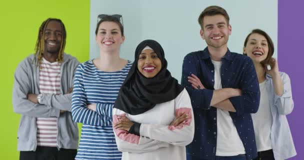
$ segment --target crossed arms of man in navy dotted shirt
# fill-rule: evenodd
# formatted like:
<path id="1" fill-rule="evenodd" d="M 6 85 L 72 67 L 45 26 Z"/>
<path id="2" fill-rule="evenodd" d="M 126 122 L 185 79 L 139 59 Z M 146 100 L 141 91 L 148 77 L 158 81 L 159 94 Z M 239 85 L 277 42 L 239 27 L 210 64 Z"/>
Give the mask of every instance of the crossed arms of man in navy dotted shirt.
<path id="1" fill-rule="evenodd" d="M 209 109 L 212 107 L 234 111 L 237 115 L 255 113 L 259 105 L 259 87 L 253 62 L 250 58 L 242 59 L 243 72 L 238 83 L 239 88 L 221 88 L 217 90 L 205 88 L 196 76 L 200 66 L 195 56 L 187 55 L 182 64 L 181 84 L 185 86 L 194 108 Z M 194 74 L 194 75 L 192 75 Z M 198 88 L 199 87 L 199 88 Z"/>

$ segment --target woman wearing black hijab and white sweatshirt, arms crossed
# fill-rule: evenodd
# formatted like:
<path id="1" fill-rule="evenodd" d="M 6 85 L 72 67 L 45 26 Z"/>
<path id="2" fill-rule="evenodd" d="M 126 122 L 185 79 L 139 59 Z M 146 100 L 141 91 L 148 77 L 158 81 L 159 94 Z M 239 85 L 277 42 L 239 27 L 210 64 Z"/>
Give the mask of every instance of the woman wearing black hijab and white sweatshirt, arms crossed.
<path id="1" fill-rule="evenodd" d="M 166 67 L 157 41 L 138 44 L 112 111 L 122 159 L 186 159 L 193 111 L 187 91 Z"/>

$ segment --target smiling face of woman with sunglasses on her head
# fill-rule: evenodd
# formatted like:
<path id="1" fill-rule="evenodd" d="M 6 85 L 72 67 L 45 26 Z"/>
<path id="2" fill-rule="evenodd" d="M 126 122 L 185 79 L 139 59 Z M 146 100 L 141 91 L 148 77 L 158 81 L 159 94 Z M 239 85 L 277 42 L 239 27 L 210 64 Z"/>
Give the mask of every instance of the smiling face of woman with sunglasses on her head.
<path id="1" fill-rule="evenodd" d="M 119 51 L 124 36 L 121 35 L 118 24 L 113 21 L 103 21 L 99 24 L 95 39 L 102 51 L 112 52 Z"/>

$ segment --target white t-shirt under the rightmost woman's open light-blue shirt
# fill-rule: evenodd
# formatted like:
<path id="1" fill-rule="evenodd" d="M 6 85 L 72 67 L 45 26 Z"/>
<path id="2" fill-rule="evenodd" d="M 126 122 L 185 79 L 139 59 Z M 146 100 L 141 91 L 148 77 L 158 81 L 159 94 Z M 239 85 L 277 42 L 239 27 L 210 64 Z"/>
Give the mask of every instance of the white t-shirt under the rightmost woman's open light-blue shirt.
<path id="1" fill-rule="evenodd" d="M 259 83 L 260 100 L 256 113 L 251 114 L 257 151 L 272 149 L 270 140 L 270 130 L 272 125 L 272 115 L 266 90 L 266 80 Z"/>

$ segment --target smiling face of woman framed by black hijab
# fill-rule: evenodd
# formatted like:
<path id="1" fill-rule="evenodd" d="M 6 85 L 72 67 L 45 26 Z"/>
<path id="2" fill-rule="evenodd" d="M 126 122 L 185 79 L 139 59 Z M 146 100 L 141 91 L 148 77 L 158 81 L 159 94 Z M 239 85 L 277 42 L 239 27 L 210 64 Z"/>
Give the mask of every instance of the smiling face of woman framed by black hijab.
<path id="1" fill-rule="evenodd" d="M 137 69 L 139 72 L 147 77 L 154 77 L 161 69 L 161 61 L 158 55 L 152 49 L 144 49 L 140 52 Z"/>

